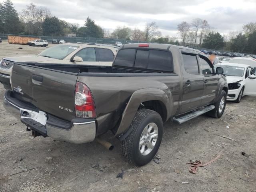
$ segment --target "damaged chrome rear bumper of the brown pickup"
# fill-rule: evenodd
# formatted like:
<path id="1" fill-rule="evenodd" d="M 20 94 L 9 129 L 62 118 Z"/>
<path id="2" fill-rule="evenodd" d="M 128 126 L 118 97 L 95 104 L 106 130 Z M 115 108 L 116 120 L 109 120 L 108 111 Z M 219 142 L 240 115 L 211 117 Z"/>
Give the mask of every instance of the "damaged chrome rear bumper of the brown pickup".
<path id="1" fill-rule="evenodd" d="M 23 118 L 22 117 L 23 112 L 28 112 L 29 118 L 32 118 L 33 120 L 38 120 L 38 122 L 40 123 L 42 122 L 41 124 L 44 124 L 44 122 L 40 118 L 40 112 L 38 113 L 35 111 L 20 108 L 12 104 L 11 102 L 9 102 L 5 97 L 4 97 L 4 108 L 6 109 L 6 111 L 8 111 L 18 120 Z M 95 121 L 73 123 L 71 128 L 68 130 L 50 126 L 47 124 L 47 121 L 45 126 L 46 126 L 47 136 L 52 137 L 56 140 L 63 140 L 63 141 L 75 143 L 75 144 L 91 142 L 94 140 L 96 136 Z"/>

